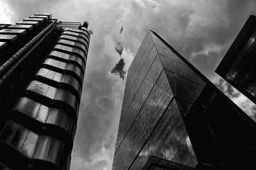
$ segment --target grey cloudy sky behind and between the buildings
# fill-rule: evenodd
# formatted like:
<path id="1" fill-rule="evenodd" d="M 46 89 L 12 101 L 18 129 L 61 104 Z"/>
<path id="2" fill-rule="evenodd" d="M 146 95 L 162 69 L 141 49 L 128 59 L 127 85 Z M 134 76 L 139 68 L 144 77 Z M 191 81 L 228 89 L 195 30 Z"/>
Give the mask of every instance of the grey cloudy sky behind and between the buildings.
<path id="1" fill-rule="evenodd" d="M 256 106 L 214 70 L 250 14 L 255 0 L 0 0 L 0 23 L 33 13 L 63 21 L 88 20 L 93 29 L 72 170 L 109 170 L 126 72 L 148 29 L 170 45 L 253 117 Z"/>

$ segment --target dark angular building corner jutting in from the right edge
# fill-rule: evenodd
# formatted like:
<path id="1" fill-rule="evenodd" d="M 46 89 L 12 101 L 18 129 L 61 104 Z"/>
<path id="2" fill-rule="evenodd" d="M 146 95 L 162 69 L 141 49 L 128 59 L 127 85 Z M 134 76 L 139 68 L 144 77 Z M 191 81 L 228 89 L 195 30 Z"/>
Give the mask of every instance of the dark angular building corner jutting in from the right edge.
<path id="1" fill-rule="evenodd" d="M 251 15 L 216 73 L 256 104 L 256 16 Z"/>

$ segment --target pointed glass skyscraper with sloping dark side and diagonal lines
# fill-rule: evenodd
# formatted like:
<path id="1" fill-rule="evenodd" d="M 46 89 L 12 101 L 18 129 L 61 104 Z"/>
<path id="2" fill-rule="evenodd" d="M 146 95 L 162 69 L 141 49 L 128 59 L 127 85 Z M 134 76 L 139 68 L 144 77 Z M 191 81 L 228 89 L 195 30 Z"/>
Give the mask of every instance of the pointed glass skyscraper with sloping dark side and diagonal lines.
<path id="1" fill-rule="evenodd" d="M 256 124 L 155 32 L 127 74 L 113 170 L 256 169 Z"/>

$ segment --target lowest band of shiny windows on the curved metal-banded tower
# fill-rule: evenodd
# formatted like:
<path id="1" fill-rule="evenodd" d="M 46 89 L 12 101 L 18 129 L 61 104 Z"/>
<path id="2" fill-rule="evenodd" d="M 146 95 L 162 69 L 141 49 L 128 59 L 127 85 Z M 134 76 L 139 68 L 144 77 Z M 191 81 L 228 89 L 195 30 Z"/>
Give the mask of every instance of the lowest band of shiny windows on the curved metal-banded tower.
<path id="1" fill-rule="evenodd" d="M 67 146 L 51 136 L 38 135 L 28 128 L 8 120 L 0 139 L 30 159 L 40 159 L 61 167 L 67 158 Z"/>

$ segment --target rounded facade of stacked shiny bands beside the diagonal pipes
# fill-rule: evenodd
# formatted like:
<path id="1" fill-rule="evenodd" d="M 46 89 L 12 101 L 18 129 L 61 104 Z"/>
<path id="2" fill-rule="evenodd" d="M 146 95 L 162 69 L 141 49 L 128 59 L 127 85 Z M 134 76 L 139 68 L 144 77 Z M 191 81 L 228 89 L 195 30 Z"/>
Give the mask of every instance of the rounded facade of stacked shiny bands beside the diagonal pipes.
<path id="1" fill-rule="evenodd" d="M 0 130 L 1 162 L 13 169 L 70 167 L 90 32 L 86 27 L 55 31 L 52 50 L 46 49 Z"/>

